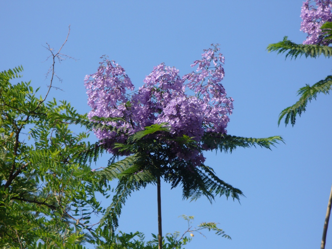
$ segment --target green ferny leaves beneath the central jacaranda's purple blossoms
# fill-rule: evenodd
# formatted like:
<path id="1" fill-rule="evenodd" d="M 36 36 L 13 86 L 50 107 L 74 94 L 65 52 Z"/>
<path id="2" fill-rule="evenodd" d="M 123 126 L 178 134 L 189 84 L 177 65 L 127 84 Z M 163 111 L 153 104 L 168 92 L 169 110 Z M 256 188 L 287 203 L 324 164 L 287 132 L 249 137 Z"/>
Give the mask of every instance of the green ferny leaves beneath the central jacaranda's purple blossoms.
<path id="1" fill-rule="evenodd" d="M 158 141 L 154 135 L 158 135 Z M 269 148 L 281 137 L 245 138 L 231 135 L 206 134 L 202 142 L 208 148 L 232 152 L 236 147 L 251 147 L 259 145 Z M 195 140 L 188 136 L 174 137 L 167 124 L 154 124 L 131 135 L 126 143 L 117 143 L 115 147 L 119 153 L 132 154 L 115 162 L 116 156 L 110 161 L 107 168 L 95 171 L 100 179 L 118 179 L 118 186 L 112 199 L 112 204 L 106 209 L 101 220 L 104 226 L 104 236 L 114 234 L 118 227 L 118 217 L 126 199 L 133 191 L 145 188 L 147 184 L 156 184 L 159 177 L 171 184 L 171 188 L 182 187 L 183 199 L 197 200 L 206 196 L 210 202 L 216 196 L 224 195 L 227 199 L 239 200 L 242 191 L 222 181 L 212 168 L 206 165 L 192 167 L 189 161 L 181 160 L 173 155 L 172 147 L 177 143 L 183 149 L 198 148 Z M 87 152 L 89 153 L 89 152 Z M 86 154 L 82 153 L 84 156 Z M 88 157 L 87 157 L 88 158 Z"/>

